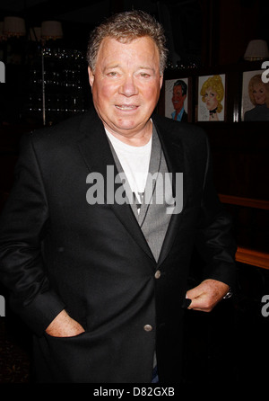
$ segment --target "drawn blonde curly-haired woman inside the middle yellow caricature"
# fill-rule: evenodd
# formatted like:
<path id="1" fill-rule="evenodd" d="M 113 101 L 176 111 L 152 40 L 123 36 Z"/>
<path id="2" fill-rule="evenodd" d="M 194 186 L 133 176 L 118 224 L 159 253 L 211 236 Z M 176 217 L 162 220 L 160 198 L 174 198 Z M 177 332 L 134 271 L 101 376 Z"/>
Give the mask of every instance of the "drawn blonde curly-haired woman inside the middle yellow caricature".
<path id="1" fill-rule="evenodd" d="M 221 101 L 224 97 L 224 86 L 221 81 L 221 76 L 209 77 L 204 82 L 200 94 L 209 111 L 209 120 L 218 121 L 218 113 L 220 113 L 223 108 Z"/>

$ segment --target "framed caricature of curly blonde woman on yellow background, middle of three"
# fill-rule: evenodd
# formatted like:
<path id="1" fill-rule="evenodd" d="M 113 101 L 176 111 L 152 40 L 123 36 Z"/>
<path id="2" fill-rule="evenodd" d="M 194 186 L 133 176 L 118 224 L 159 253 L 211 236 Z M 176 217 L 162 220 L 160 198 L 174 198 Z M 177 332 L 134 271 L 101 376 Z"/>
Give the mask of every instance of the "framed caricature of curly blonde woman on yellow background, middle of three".
<path id="1" fill-rule="evenodd" d="M 197 121 L 225 120 L 225 74 L 198 77 Z"/>

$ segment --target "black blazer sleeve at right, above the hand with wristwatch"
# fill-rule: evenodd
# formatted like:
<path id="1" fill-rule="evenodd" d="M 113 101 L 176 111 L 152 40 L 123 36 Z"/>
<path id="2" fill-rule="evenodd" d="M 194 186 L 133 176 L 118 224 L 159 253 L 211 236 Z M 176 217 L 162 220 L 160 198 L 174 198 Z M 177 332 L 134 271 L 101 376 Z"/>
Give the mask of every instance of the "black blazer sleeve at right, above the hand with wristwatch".
<path id="1" fill-rule="evenodd" d="M 195 245 L 205 261 L 204 279 L 222 281 L 234 289 L 237 245 L 230 215 L 223 208 L 213 186 L 212 157 L 208 138 L 206 138 L 206 152 L 203 196 Z"/>

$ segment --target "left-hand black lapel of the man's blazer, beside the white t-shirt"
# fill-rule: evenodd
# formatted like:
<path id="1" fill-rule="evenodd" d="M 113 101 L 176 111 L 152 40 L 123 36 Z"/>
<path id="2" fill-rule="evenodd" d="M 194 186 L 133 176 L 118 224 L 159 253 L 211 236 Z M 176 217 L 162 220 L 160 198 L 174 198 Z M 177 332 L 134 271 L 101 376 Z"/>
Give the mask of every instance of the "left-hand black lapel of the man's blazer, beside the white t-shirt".
<path id="1" fill-rule="evenodd" d="M 115 192 L 117 192 L 122 184 L 115 183 L 118 174 L 117 166 L 108 144 L 105 129 L 97 114 L 92 113 L 90 116 L 85 116 L 85 119 L 82 121 L 81 131 L 84 135 L 78 140 L 78 147 L 89 172 L 100 173 L 104 177 L 105 188 L 100 185 L 100 191 L 104 192 L 104 199 L 108 201 L 109 206 L 123 226 L 126 227 L 126 230 L 134 237 L 134 241 L 143 248 L 146 254 L 154 259 L 131 206 L 126 203 L 120 205 L 115 201 Z M 112 177 L 113 183 L 111 183 Z M 108 181 L 111 187 L 112 185 L 114 186 L 114 193 L 109 192 L 109 200 L 106 190 L 106 183 Z M 114 201 L 111 201 L 111 195 L 113 195 Z"/>

